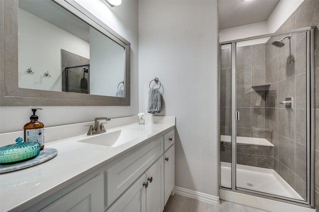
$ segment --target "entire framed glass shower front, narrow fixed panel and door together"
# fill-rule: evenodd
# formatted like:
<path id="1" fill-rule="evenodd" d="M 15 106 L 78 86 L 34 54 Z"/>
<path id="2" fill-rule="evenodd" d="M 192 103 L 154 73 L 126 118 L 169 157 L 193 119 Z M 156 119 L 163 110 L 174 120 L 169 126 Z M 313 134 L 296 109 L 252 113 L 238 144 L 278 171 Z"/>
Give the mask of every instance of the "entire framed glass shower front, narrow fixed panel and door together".
<path id="1" fill-rule="evenodd" d="M 221 45 L 221 187 L 310 202 L 311 33 Z"/>

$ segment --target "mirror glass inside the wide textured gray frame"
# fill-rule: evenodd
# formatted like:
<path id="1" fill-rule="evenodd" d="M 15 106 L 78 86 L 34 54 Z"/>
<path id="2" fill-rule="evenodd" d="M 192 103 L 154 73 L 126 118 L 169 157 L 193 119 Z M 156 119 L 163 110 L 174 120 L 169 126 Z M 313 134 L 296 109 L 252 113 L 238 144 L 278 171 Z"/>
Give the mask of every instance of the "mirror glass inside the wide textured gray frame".
<path id="1" fill-rule="evenodd" d="M 18 5 L 19 88 L 125 97 L 123 46 L 51 0 Z"/>

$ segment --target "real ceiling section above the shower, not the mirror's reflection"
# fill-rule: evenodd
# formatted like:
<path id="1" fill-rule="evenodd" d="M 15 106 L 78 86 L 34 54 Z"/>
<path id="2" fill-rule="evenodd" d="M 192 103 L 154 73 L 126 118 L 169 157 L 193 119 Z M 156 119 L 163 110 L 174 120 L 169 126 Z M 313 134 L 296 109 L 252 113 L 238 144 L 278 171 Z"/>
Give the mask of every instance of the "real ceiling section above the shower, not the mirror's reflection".
<path id="1" fill-rule="evenodd" d="M 279 0 L 218 0 L 219 29 L 266 21 Z"/>

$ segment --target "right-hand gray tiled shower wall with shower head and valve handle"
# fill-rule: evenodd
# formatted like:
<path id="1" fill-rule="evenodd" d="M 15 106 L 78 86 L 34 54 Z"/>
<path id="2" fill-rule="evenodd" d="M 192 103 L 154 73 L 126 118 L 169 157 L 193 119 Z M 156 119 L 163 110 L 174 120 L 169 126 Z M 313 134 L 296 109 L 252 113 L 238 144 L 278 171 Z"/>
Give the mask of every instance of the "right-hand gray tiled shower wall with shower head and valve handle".
<path id="1" fill-rule="evenodd" d="M 316 14 L 316 15 L 315 15 Z M 319 52 L 319 0 L 304 0 L 296 11 L 277 30 L 317 26 L 315 49 Z M 274 170 L 303 198 L 306 198 L 306 36 L 303 33 L 285 39 L 285 46 L 271 45 L 279 37 L 266 43 L 266 80 L 272 83 L 267 97 L 266 127 L 272 130 L 267 139 L 274 147 Z M 290 43 L 289 43 L 290 42 Z M 315 59 L 316 123 L 319 122 L 319 54 Z M 296 85 L 296 87 L 295 87 Z M 295 108 L 288 109 L 279 102 L 294 97 Z M 316 208 L 319 211 L 319 127 L 316 127 Z"/>

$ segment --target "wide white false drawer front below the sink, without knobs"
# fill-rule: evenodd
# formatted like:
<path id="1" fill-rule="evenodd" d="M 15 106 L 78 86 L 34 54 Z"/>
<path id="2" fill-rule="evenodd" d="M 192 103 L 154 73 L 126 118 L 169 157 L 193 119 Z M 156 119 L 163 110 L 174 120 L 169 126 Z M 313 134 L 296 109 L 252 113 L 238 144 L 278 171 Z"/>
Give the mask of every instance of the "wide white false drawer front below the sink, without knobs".
<path id="1" fill-rule="evenodd" d="M 105 205 L 109 207 L 163 153 L 163 137 L 152 141 L 107 169 L 105 176 Z"/>

